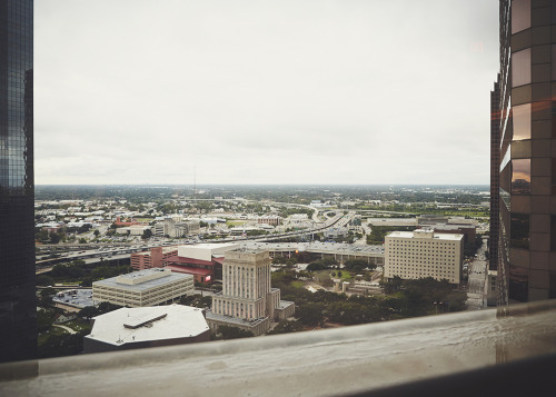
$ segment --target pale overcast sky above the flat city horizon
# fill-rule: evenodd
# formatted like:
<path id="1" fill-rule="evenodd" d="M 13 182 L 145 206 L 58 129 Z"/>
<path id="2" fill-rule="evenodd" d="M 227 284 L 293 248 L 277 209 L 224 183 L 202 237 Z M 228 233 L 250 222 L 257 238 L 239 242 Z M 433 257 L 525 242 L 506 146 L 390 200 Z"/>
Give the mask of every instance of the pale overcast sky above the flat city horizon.
<path id="1" fill-rule="evenodd" d="M 36 182 L 488 183 L 497 0 L 40 0 Z"/>

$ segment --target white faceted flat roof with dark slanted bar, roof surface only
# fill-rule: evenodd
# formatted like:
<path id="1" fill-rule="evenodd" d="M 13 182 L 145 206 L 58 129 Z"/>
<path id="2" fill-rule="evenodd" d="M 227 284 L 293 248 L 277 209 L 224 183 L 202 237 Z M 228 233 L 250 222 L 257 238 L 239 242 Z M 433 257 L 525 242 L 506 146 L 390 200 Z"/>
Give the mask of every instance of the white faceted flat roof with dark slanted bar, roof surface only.
<path id="1" fill-rule="evenodd" d="M 202 309 L 182 305 L 121 308 L 93 319 L 86 338 L 115 346 L 196 337 L 209 329 Z"/>

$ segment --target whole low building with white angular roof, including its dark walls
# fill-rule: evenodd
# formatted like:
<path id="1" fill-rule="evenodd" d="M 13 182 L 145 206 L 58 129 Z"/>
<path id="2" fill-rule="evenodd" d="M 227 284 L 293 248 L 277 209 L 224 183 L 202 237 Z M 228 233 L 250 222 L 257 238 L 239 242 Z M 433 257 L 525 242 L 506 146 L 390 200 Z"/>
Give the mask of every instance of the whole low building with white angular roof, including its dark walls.
<path id="1" fill-rule="evenodd" d="M 121 308 L 97 316 L 83 338 L 85 353 L 192 344 L 210 340 L 203 310 L 182 306 Z"/>

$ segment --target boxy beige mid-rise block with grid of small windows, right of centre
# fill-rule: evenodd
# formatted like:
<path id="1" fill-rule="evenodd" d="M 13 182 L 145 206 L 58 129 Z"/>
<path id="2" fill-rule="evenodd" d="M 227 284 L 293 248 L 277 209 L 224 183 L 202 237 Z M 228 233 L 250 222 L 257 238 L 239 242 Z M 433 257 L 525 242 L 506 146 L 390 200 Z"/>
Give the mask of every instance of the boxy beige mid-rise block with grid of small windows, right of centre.
<path id="1" fill-rule="evenodd" d="M 464 235 L 433 230 L 393 231 L 385 239 L 384 277 L 433 277 L 450 284 L 461 281 Z"/>

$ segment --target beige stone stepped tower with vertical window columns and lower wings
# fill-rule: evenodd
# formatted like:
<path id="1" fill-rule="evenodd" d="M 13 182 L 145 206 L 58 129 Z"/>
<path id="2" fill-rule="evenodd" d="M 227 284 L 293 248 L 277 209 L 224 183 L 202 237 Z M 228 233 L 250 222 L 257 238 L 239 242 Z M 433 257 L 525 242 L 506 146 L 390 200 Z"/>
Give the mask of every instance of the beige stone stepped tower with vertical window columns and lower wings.
<path id="1" fill-rule="evenodd" d="M 295 305 L 280 300 L 280 290 L 270 286 L 268 250 L 238 249 L 226 252 L 222 291 L 212 296 L 207 320 L 216 331 L 220 325 L 244 328 L 261 335 L 271 319 L 294 316 Z"/>

